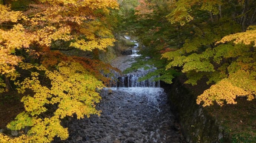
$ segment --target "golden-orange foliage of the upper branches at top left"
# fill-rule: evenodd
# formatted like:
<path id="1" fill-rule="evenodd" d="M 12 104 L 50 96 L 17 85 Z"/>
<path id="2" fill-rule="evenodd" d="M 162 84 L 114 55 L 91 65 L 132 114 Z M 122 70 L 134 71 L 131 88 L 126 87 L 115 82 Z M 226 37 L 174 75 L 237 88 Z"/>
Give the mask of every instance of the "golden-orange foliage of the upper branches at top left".
<path id="1" fill-rule="evenodd" d="M 118 8 L 116 0 L 40 0 L 24 12 L 0 5 L 0 23 L 16 22 L 11 29 L 0 29 L 0 73 L 15 79 L 15 67 L 23 59 L 15 55 L 16 50 L 42 54 L 32 45 L 44 49 L 62 40 L 82 50 L 113 46 L 112 32 L 100 21 L 111 8 Z"/>

